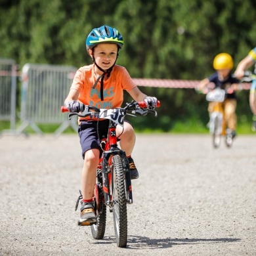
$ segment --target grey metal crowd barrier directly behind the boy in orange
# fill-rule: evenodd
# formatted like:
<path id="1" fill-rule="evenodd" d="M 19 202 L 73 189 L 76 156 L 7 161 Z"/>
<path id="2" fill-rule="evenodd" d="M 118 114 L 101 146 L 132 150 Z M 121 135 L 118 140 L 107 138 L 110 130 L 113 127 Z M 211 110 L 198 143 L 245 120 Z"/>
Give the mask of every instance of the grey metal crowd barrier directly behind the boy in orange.
<path id="1" fill-rule="evenodd" d="M 73 66 L 24 65 L 20 108 L 22 123 L 16 130 L 17 134 L 30 126 L 42 135 L 37 124 L 44 123 L 60 123 L 56 135 L 60 135 L 70 125 L 77 131 L 76 121 L 68 121 L 67 116 L 60 112 L 76 70 Z"/>

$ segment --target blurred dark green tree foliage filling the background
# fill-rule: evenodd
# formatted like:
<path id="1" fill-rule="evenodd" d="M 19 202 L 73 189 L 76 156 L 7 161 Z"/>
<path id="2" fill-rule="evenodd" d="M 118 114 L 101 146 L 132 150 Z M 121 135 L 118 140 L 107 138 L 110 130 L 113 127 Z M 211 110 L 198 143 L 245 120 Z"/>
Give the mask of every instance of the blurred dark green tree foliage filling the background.
<path id="1" fill-rule="evenodd" d="M 88 33 L 108 24 L 123 35 L 117 64 L 132 77 L 199 80 L 213 72 L 216 54 L 230 53 L 236 65 L 255 47 L 255 10 L 255 0 L 0 0 L 0 56 L 20 66 L 79 68 L 91 63 Z M 163 123 L 196 117 L 198 106 L 206 109 L 205 100 L 188 89 L 143 91 L 168 103 L 168 110 L 161 106 Z M 247 95 L 240 97 L 242 110 L 250 112 Z"/>

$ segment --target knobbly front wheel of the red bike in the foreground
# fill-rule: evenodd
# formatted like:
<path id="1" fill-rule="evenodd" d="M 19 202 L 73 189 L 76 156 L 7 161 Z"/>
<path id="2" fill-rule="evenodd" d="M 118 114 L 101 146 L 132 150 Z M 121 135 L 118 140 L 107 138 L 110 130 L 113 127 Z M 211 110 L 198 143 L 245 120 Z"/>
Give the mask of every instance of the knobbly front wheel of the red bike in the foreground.
<path id="1" fill-rule="evenodd" d="M 119 155 L 112 158 L 112 200 L 113 217 L 118 247 L 127 245 L 127 197 L 125 186 L 125 169 Z"/>

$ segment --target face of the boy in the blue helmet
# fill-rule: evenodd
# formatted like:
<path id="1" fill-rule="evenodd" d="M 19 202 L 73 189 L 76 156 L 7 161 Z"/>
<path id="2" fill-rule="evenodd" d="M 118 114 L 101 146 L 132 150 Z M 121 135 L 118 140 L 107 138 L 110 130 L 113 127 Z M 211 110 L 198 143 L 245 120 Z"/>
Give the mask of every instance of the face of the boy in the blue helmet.
<path id="1" fill-rule="evenodd" d="M 95 62 L 102 70 L 111 68 L 117 58 L 117 45 L 114 43 L 100 43 L 94 47 Z M 93 58 L 93 51 L 89 50 L 89 54 Z"/>

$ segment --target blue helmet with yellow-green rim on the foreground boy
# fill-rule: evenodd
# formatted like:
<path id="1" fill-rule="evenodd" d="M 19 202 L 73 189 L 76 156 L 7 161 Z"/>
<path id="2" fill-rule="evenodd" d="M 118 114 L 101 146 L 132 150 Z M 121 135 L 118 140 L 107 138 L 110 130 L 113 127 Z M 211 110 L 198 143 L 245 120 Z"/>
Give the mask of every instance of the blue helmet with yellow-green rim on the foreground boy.
<path id="1" fill-rule="evenodd" d="M 89 33 L 85 41 L 87 51 L 100 43 L 114 43 L 118 46 L 118 49 L 121 49 L 123 47 L 123 37 L 116 28 L 104 25 L 100 28 L 94 28 Z"/>

